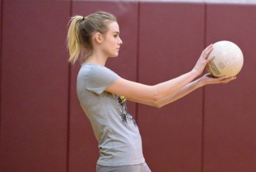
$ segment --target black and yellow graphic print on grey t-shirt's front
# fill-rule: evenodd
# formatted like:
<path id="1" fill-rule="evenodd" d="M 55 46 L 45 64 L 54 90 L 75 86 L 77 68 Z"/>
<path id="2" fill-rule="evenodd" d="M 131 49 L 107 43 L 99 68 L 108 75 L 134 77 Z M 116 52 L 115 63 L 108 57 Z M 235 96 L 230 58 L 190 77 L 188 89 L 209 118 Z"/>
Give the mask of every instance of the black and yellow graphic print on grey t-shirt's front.
<path id="1" fill-rule="evenodd" d="M 118 101 L 118 113 L 121 116 L 122 124 L 127 125 L 128 120 L 133 121 L 134 126 L 137 127 L 137 123 L 133 116 L 127 112 L 126 97 L 115 95 Z"/>

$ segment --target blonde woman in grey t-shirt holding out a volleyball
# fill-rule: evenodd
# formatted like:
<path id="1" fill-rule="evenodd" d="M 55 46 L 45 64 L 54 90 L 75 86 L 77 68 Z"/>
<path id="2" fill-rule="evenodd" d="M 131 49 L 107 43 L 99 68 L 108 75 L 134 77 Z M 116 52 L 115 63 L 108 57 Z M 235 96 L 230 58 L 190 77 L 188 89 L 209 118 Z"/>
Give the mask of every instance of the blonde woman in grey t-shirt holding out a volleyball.
<path id="1" fill-rule="evenodd" d="M 69 62 L 80 59 L 82 63 L 77 76 L 77 95 L 99 142 L 98 172 L 150 171 L 142 155 L 138 125 L 127 113 L 126 98 L 160 108 L 201 86 L 235 79 L 204 75 L 193 81 L 214 58 L 207 59 L 212 44 L 204 49 L 192 71 L 169 81 L 146 86 L 121 78 L 105 67 L 109 57 L 118 56 L 122 45 L 118 22 L 111 13 L 72 17 L 67 40 Z"/>

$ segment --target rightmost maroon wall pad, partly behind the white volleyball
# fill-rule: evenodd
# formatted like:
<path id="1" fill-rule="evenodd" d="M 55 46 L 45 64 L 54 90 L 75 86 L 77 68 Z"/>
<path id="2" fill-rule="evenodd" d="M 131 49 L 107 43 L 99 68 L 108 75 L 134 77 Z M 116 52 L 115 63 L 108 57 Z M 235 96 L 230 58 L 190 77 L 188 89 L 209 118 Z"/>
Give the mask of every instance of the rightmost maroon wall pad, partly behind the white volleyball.
<path id="1" fill-rule="evenodd" d="M 244 55 L 235 82 L 208 86 L 205 95 L 204 171 L 256 169 L 256 6 L 207 6 L 207 42 L 231 40 Z"/>

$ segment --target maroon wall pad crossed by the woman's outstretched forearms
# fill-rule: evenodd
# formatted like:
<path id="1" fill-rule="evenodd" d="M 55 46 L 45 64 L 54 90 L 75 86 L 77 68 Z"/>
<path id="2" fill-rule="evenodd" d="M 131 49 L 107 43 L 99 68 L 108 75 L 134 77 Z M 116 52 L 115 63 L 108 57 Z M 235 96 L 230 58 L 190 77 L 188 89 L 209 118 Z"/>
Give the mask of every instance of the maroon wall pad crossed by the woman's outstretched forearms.
<path id="1" fill-rule="evenodd" d="M 191 71 L 204 48 L 204 4 L 145 2 L 139 18 L 139 82 L 154 85 Z M 202 90 L 161 109 L 138 107 L 151 170 L 200 171 Z"/>

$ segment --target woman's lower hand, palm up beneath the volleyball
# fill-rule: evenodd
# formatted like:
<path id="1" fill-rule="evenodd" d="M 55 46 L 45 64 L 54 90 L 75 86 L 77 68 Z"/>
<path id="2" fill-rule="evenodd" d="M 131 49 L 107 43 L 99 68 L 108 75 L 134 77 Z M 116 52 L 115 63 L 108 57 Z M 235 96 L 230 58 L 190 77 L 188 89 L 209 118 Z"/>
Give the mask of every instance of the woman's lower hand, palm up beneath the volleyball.
<path id="1" fill-rule="evenodd" d="M 205 86 L 205 85 L 208 85 L 208 84 L 217 84 L 217 83 L 231 82 L 235 78 L 236 77 L 226 78 L 225 76 L 219 77 L 219 78 L 215 78 L 214 76 L 212 76 L 211 74 L 208 73 L 208 74 L 202 76 L 200 79 L 201 79 L 201 82 L 202 82 L 203 86 Z"/>

